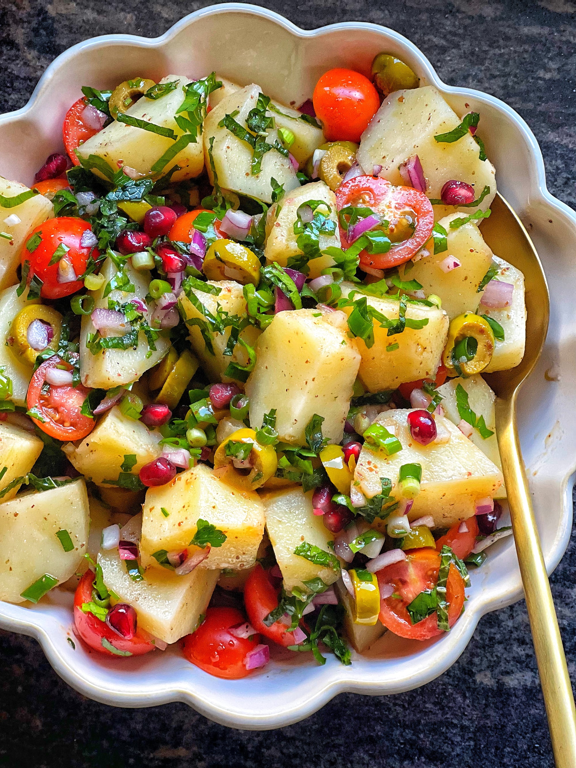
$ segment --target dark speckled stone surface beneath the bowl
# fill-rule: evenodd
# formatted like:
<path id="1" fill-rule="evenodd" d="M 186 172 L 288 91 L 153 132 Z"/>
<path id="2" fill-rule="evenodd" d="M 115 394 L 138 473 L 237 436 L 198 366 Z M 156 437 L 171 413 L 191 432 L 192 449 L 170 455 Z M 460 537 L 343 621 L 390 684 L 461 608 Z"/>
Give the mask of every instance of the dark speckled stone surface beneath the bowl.
<path id="1" fill-rule="evenodd" d="M 0 111 L 24 106 L 48 64 L 74 43 L 114 32 L 160 35 L 204 5 L 0 0 Z M 365 20 L 406 35 L 445 82 L 487 91 L 518 110 L 540 142 L 551 192 L 576 204 L 573 2 L 270 0 L 260 5 L 304 28 Z M 551 580 L 573 679 L 575 566 L 573 534 Z M 303 723 L 271 733 L 229 730 L 184 704 L 105 707 L 63 683 L 35 641 L 0 633 L 0 644 L 0 765 L 12 768 L 554 764 L 524 602 L 483 617 L 462 657 L 431 684 L 393 697 L 345 694 Z"/>

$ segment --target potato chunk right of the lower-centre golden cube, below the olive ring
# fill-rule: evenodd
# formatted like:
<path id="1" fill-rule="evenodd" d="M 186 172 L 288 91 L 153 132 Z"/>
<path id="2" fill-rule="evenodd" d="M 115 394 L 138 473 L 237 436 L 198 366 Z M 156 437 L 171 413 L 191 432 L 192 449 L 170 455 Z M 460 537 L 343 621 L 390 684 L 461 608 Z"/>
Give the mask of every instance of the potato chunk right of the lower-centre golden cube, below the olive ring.
<path id="1" fill-rule="evenodd" d="M 296 547 L 306 541 L 334 555 L 328 545 L 334 535 L 324 527 L 321 516 L 313 515 L 312 495 L 312 491 L 304 493 L 300 487 L 262 495 L 266 531 L 282 571 L 286 591 L 294 587 L 306 590 L 303 581 L 317 577 L 324 584 L 333 584 L 340 575 L 340 568 L 317 565 L 300 554 L 294 554 Z"/>

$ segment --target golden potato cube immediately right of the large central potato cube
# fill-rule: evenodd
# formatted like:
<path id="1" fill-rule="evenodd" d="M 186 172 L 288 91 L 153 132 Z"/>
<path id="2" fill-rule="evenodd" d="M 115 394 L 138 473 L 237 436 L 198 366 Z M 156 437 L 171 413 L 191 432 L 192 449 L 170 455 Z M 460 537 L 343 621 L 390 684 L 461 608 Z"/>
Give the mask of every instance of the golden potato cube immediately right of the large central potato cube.
<path id="1" fill-rule="evenodd" d="M 355 290 L 352 283 L 342 284 L 343 296 L 348 296 L 352 290 Z M 356 293 L 354 299 L 360 298 L 362 294 Z M 367 303 L 388 319 L 399 315 L 399 301 L 386 295 L 381 298 L 367 296 Z M 353 307 L 346 306 L 344 311 L 350 316 Z M 362 356 L 359 376 L 369 392 L 396 389 L 404 382 L 427 377 L 433 379 L 435 376 L 448 336 L 448 316 L 437 306 L 409 303 L 406 317 L 415 320 L 427 319 L 428 323 L 422 329 L 406 328 L 402 333 L 388 336 L 388 329 L 382 328 L 380 323 L 374 320 L 374 344 L 368 348 L 362 339 L 355 339 Z"/>

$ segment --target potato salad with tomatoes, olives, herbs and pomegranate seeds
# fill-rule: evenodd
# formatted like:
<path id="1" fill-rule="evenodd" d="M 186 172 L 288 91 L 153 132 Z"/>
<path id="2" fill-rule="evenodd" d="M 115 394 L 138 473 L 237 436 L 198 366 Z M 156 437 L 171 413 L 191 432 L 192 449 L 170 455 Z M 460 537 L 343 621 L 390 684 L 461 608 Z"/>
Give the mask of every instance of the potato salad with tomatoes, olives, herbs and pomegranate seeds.
<path id="1" fill-rule="evenodd" d="M 448 633 L 511 533 L 481 115 L 366 74 L 78 86 L 66 154 L 0 177 L 0 599 L 73 592 L 77 652 L 351 664 Z"/>

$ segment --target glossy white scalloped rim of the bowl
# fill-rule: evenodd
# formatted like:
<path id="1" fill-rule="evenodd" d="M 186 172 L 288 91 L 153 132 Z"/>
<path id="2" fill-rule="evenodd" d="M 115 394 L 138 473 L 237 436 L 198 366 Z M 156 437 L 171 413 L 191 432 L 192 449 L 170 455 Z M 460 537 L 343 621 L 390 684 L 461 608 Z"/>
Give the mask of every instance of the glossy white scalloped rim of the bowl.
<path id="1" fill-rule="evenodd" d="M 504 101 L 501 101 L 490 94 L 472 88 L 460 88 L 458 86 L 445 84 L 441 78 L 439 78 L 438 74 L 436 74 L 435 69 L 432 67 L 428 58 L 425 57 L 422 51 L 420 51 L 412 41 L 409 41 L 408 38 L 400 35 L 397 31 L 383 27 L 382 25 L 373 24 L 372 22 L 339 22 L 313 30 L 303 30 L 282 15 L 270 11 L 267 8 L 243 3 L 223 3 L 221 5 L 210 5 L 207 8 L 200 8 L 199 10 L 186 15 L 184 18 L 180 19 L 179 22 L 167 29 L 163 35 L 160 35 L 157 38 L 144 38 L 138 35 L 124 34 L 101 35 L 96 38 L 90 38 L 68 48 L 55 58 L 45 70 L 44 74 L 42 74 L 28 103 L 18 110 L 0 115 L 0 126 L 7 122 L 12 123 L 18 121 L 20 118 L 24 118 L 25 115 L 34 108 L 40 95 L 45 91 L 48 91 L 55 73 L 61 68 L 65 68 L 68 61 L 71 61 L 71 59 L 75 58 L 83 51 L 88 51 L 94 48 L 107 48 L 117 44 L 124 46 L 131 45 L 136 48 L 161 48 L 175 38 L 180 31 L 190 25 L 194 25 L 200 18 L 205 18 L 209 15 L 226 15 L 230 13 L 260 16 L 268 21 L 274 22 L 276 25 L 289 31 L 290 34 L 294 35 L 296 38 L 301 39 L 321 38 L 323 35 L 330 35 L 335 31 L 376 31 L 379 34 L 384 33 L 387 39 L 395 41 L 400 48 L 408 51 L 409 54 L 419 62 L 419 66 L 425 74 L 429 84 L 434 85 L 435 88 L 438 88 L 443 94 L 454 94 L 457 96 L 468 95 L 475 98 L 477 101 L 490 104 L 515 125 L 516 129 L 520 131 L 522 137 L 526 141 L 528 152 L 531 154 L 531 160 L 534 163 L 535 184 L 533 184 L 533 191 L 541 202 L 554 209 L 563 217 L 567 217 L 574 227 L 576 227 L 576 213 L 574 213 L 574 210 L 568 207 L 567 204 L 561 202 L 561 200 L 558 200 L 558 198 L 554 197 L 546 187 L 545 165 L 541 149 L 535 135 L 531 131 L 531 128 L 528 127 L 525 120 L 521 118 L 515 110 L 509 107 L 508 104 L 505 104 Z M 561 478 L 560 497 L 562 515 L 559 520 L 558 531 L 556 532 L 554 542 L 551 545 L 551 551 L 549 551 L 548 557 L 545 558 L 548 573 L 551 573 L 551 571 L 558 565 L 561 556 L 568 546 L 570 538 L 572 520 L 572 474 L 573 470 L 566 472 L 564 477 Z M 508 546 L 510 545 L 511 542 Z M 327 663 L 326 667 L 323 667 L 322 669 L 326 670 L 326 673 L 328 674 L 323 674 L 322 680 L 319 680 L 317 675 L 315 676 L 316 686 L 313 691 L 307 691 L 306 695 L 299 694 L 299 696 L 295 697 L 290 704 L 286 705 L 281 713 L 270 713 L 270 715 L 261 714 L 254 716 L 247 713 L 245 710 L 238 710 L 231 713 L 230 710 L 227 710 L 225 707 L 207 700 L 203 695 L 205 686 L 199 686 L 198 690 L 194 690 L 194 684 L 190 684 L 187 681 L 174 687 L 149 684 L 137 687 L 137 689 L 134 688 L 134 690 L 126 690 L 126 687 L 122 686 L 104 687 L 101 682 L 97 682 L 98 673 L 94 675 L 93 679 L 88 680 L 86 677 L 79 674 L 77 668 L 74 668 L 72 664 L 68 663 L 65 655 L 59 650 L 54 636 L 49 633 L 48 628 L 50 628 L 49 625 L 51 625 L 51 621 L 45 621 L 43 620 L 43 617 L 47 615 L 49 616 L 50 609 L 38 612 L 28 611 L 22 606 L 0 602 L 0 627 L 35 637 L 35 639 L 40 642 L 48 661 L 51 666 L 55 668 L 56 672 L 63 677 L 71 687 L 74 687 L 75 690 L 78 690 L 81 694 L 94 700 L 119 707 L 146 707 L 171 701 L 183 701 L 194 707 L 194 709 L 200 711 L 200 713 L 210 717 L 211 720 L 215 720 L 224 725 L 237 728 L 263 730 L 283 727 L 301 720 L 304 717 L 308 717 L 339 693 L 356 692 L 372 695 L 393 694 L 411 690 L 412 688 L 428 683 L 430 680 L 439 676 L 439 674 L 445 672 L 445 670 L 455 662 L 468 644 L 468 641 L 475 630 L 475 626 L 482 615 L 488 611 L 505 607 L 522 597 L 521 580 L 517 567 L 514 575 L 515 578 L 511 580 L 511 585 L 508 588 L 502 587 L 499 590 L 491 588 L 489 596 L 488 594 L 483 594 L 481 598 L 475 601 L 475 611 L 465 613 L 462 619 L 458 621 L 458 633 L 452 632 L 444 638 L 442 642 L 442 651 L 435 654 L 437 658 L 435 659 L 434 664 L 425 668 L 420 666 L 417 672 L 406 674 L 404 677 L 400 677 L 399 680 L 395 681 L 382 679 L 374 680 L 373 677 L 367 676 L 366 674 L 355 673 L 353 667 L 341 667 L 339 664 L 338 667 L 335 667 L 333 664 Z M 96 668 L 98 670 L 98 667 Z M 347 670 L 346 674 L 343 674 L 343 670 Z M 313 686 L 310 686 L 310 689 L 312 688 Z"/>

